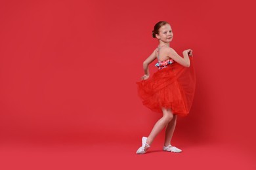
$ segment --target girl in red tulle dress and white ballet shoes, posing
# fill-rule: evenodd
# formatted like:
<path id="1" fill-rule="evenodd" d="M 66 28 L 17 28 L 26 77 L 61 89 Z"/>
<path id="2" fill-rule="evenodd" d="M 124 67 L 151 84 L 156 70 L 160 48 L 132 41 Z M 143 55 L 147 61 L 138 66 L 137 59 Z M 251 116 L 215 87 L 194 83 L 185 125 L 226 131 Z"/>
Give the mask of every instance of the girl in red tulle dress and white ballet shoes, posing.
<path id="1" fill-rule="evenodd" d="M 163 112 L 163 117 L 156 122 L 150 135 L 142 137 L 142 146 L 137 154 L 144 154 L 150 148 L 155 137 L 165 127 L 164 151 L 181 152 L 182 150 L 171 145 L 171 138 L 175 130 L 177 115 L 186 116 L 190 110 L 195 90 L 195 75 L 192 65 L 192 50 L 184 50 L 183 58 L 170 48 L 173 39 L 171 25 L 161 21 L 152 31 L 159 45 L 154 52 L 143 62 L 144 76 L 137 82 L 139 96 L 142 103 L 156 112 Z M 150 76 L 148 65 L 158 59 L 158 71 Z"/>

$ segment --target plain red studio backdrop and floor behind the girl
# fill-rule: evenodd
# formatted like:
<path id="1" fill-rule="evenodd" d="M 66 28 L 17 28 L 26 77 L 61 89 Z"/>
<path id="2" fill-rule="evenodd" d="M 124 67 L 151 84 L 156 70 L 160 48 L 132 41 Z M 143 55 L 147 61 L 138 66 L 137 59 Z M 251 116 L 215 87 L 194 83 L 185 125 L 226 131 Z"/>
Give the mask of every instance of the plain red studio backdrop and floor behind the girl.
<path id="1" fill-rule="evenodd" d="M 1 1 L 1 169 L 254 169 L 254 16 L 247 0 Z M 160 20 L 193 50 L 196 94 L 184 152 L 160 152 L 162 131 L 138 156 L 161 117 L 135 84 Z"/>

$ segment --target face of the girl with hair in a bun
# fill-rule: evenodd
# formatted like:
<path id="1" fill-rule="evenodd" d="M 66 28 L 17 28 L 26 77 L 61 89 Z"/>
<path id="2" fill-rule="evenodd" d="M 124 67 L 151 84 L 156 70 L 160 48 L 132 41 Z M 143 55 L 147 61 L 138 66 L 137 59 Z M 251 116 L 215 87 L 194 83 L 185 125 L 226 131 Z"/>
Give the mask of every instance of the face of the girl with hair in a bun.
<path id="1" fill-rule="evenodd" d="M 171 30 L 171 25 L 165 24 L 160 27 L 159 34 L 156 37 L 163 42 L 171 42 L 173 40 L 173 31 Z"/>

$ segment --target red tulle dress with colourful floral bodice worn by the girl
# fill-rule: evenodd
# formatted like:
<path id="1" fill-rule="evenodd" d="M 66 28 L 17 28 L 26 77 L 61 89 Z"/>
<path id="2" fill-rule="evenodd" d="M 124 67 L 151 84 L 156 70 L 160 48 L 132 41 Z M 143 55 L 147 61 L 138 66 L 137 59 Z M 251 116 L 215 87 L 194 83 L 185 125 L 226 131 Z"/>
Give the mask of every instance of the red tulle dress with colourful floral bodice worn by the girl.
<path id="1" fill-rule="evenodd" d="M 151 78 L 137 82 L 143 105 L 154 112 L 162 112 L 161 108 L 164 107 L 171 109 L 173 114 L 186 116 L 196 88 L 192 57 L 190 67 L 184 67 L 173 59 L 160 61 L 159 56 L 155 66 L 158 71 Z"/>

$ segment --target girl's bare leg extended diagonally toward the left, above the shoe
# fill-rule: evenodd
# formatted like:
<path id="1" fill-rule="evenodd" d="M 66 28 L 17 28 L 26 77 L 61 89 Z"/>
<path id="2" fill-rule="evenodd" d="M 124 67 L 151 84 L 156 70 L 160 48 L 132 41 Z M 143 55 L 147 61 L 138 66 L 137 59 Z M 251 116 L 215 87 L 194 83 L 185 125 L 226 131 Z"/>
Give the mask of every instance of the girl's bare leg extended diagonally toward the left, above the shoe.
<path id="1" fill-rule="evenodd" d="M 155 126 L 153 127 L 153 129 L 146 141 L 146 143 L 148 143 L 149 145 L 152 144 L 155 137 L 158 135 L 158 133 L 160 133 L 160 131 L 163 129 L 163 127 L 167 126 L 167 124 L 169 122 L 171 122 L 171 120 L 173 120 L 173 112 L 171 112 L 170 109 L 162 108 L 162 110 L 163 110 L 163 117 L 160 118 L 160 120 L 158 120 L 158 122 L 156 122 Z"/>

